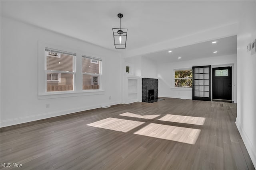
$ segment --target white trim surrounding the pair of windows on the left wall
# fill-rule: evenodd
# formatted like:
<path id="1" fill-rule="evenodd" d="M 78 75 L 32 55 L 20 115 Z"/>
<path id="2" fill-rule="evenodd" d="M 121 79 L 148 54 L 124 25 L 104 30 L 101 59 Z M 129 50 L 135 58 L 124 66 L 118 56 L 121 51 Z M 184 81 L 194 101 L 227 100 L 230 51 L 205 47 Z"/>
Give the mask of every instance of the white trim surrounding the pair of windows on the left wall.
<path id="1" fill-rule="evenodd" d="M 75 71 L 74 74 L 74 90 L 73 91 L 60 91 L 60 92 L 47 92 L 46 93 L 46 76 L 45 73 L 45 47 L 49 47 L 51 49 L 59 49 L 60 51 L 70 51 L 76 53 L 76 57 L 73 57 L 74 66 L 73 69 Z M 102 82 L 102 74 L 100 76 L 100 89 L 95 90 L 82 90 L 82 66 L 77 67 L 77 63 L 82 62 L 82 54 L 86 54 L 86 51 L 73 49 L 70 47 L 63 47 L 61 45 L 54 45 L 49 43 L 44 43 L 38 41 L 38 99 L 51 99 L 51 98 L 65 98 L 65 97 L 74 97 L 74 96 L 90 96 L 90 95 L 102 95 L 105 94 L 104 86 Z M 93 56 L 94 53 L 88 53 L 88 55 Z M 97 55 L 98 56 L 98 55 Z M 99 56 L 102 59 L 102 63 L 104 63 L 104 56 Z M 100 69 L 102 70 L 103 66 L 101 64 Z M 54 72 L 54 71 L 51 71 Z M 67 73 L 67 72 L 64 72 Z"/>

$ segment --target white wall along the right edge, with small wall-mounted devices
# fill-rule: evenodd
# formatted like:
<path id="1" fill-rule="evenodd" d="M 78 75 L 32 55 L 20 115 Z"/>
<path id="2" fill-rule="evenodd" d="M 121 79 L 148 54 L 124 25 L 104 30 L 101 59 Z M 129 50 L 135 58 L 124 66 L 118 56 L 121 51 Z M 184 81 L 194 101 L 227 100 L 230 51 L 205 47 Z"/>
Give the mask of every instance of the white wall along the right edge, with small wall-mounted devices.
<path id="1" fill-rule="evenodd" d="M 256 1 L 243 3 L 237 35 L 236 126 L 256 167 L 256 55 L 246 51 L 256 38 Z"/>

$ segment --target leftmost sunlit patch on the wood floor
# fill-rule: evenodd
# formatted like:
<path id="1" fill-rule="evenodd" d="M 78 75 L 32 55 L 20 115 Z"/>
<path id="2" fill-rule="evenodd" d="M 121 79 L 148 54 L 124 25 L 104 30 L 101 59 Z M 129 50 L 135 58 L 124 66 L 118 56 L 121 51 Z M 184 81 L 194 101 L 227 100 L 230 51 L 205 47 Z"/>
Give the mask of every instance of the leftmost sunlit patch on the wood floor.
<path id="1" fill-rule="evenodd" d="M 110 129 L 113 131 L 128 132 L 142 125 L 143 123 L 144 122 L 140 122 L 140 121 L 132 121 L 132 120 L 117 119 L 117 118 L 109 117 L 107 119 L 96 121 L 94 123 L 90 123 L 87 125 L 93 126 L 93 127 L 100 127 L 104 129 Z"/>

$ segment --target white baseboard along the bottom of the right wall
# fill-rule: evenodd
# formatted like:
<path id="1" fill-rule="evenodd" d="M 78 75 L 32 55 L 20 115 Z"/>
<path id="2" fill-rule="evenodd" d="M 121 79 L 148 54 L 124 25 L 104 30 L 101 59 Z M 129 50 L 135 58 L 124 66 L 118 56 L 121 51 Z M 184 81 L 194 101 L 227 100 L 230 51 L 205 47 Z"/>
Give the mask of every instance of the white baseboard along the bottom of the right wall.
<path id="1" fill-rule="evenodd" d="M 244 141 L 244 145 L 250 155 L 250 158 L 252 160 L 252 164 L 254 165 L 254 168 L 256 168 L 256 150 L 254 150 L 254 147 L 249 140 L 248 136 L 246 135 L 245 131 L 242 129 L 241 123 L 236 120 L 236 127 L 242 137 L 242 140 Z"/>

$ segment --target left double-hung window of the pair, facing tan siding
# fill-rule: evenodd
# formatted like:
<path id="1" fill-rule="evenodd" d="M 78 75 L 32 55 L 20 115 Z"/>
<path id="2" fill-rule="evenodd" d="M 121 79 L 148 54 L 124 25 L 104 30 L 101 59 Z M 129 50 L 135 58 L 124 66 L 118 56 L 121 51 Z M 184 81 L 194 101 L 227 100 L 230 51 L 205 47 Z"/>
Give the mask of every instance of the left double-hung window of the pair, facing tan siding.
<path id="1" fill-rule="evenodd" d="M 46 92 L 74 90 L 76 54 L 45 48 Z"/>

